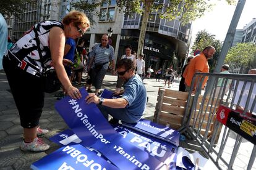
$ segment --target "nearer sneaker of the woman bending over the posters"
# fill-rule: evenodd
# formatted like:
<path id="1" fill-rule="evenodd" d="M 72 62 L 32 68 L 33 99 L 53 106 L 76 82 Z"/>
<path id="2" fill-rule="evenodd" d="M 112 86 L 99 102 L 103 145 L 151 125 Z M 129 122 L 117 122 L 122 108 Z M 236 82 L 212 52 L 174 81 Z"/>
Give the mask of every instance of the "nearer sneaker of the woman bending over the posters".
<path id="1" fill-rule="evenodd" d="M 20 150 L 23 151 L 33 151 L 33 152 L 43 152 L 49 149 L 49 145 L 45 144 L 41 138 L 36 137 L 33 142 L 25 143 L 24 140 L 20 145 Z"/>

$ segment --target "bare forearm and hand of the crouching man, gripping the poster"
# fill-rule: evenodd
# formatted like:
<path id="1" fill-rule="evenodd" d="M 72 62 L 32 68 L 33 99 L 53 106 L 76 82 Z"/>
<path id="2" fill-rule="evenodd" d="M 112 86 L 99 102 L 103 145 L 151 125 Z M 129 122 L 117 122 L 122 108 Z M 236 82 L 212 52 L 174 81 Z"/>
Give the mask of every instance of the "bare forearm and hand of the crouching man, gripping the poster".
<path id="1" fill-rule="evenodd" d="M 90 103 L 96 103 L 98 104 L 99 97 L 96 96 L 94 93 L 88 94 L 87 97 L 85 98 L 85 101 L 90 104 Z M 104 102 L 102 105 L 106 107 L 111 107 L 111 108 L 125 108 L 128 105 L 128 102 L 126 99 L 123 98 L 118 98 L 118 99 L 104 99 Z"/>

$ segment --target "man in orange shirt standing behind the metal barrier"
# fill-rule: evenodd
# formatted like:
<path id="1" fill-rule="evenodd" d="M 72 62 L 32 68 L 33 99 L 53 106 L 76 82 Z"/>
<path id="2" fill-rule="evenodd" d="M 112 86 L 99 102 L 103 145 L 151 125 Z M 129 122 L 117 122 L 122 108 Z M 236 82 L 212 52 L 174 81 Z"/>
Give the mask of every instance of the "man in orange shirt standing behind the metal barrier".
<path id="1" fill-rule="evenodd" d="M 194 84 L 191 84 L 192 78 L 195 73 L 209 73 L 208 60 L 213 57 L 213 54 L 215 54 L 215 48 L 213 46 L 207 46 L 205 49 L 203 49 L 203 52 L 200 52 L 200 54 L 195 56 L 194 59 L 190 61 L 187 70 L 183 74 L 185 78 L 186 92 L 189 92 L 190 88 L 192 88 L 192 92 L 195 93 L 197 81 L 200 81 L 202 78 L 197 76 L 195 78 Z M 205 86 L 207 79 L 208 77 L 203 80 L 202 89 Z"/>

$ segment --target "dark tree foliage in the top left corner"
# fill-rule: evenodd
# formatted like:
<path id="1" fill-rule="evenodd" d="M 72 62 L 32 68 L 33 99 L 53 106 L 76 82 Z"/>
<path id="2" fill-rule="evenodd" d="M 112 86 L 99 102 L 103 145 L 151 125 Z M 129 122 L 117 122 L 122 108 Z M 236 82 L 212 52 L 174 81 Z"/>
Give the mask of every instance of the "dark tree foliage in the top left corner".
<path id="1" fill-rule="evenodd" d="M 25 9 L 26 3 L 35 5 L 36 0 L 3 0 L 0 3 L 0 12 L 5 17 L 14 15 L 19 18 L 19 13 Z"/>

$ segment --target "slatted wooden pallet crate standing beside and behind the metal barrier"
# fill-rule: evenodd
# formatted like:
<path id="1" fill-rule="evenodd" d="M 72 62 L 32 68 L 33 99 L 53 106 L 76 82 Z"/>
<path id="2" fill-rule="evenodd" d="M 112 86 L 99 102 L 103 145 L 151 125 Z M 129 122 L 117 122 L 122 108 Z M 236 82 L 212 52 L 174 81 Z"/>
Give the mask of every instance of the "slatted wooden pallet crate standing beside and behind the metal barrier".
<path id="1" fill-rule="evenodd" d="M 170 89 L 159 88 L 158 99 L 155 108 L 155 115 L 153 121 L 156 123 L 168 125 L 173 129 L 179 129 L 182 126 L 182 121 L 186 111 L 187 98 L 189 93 L 172 91 Z M 207 129 L 208 119 L 210 123 L 210 128 L 208 129 L 208 136 L 213 132 L 213 126 L 215 123 L 215 113 L 213 110 L 215 105 L 220 104 L 220 100 L 214 99 L 210 100 L 206 98 L 204 103 L 202 102 L 203 96 L 199 95 L 197 100 L 196 110 L 192 111 L 190 118 L 190 126 L 194 126 L 195 129 L 200 127 L 200 134 L 204 135 Z M 190 101 L 190 106 L 192 105 Z M 203 103 L 203 113 L 199 113 L 199 109 Z M 189 107 L 190 110 L 190 107 Z M 206 111 L 205 111 L 206 110 Z M 199 113 L 199 114 L 198 114 Z M 211 118 L 213 116 L 213 118 Z M 194 122 L 194 118 L 197 120 Z M 193 124 L 194 123 L 194 124 Z M 202 126 L 201 126 L 202 125 Z"/>

